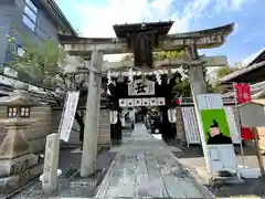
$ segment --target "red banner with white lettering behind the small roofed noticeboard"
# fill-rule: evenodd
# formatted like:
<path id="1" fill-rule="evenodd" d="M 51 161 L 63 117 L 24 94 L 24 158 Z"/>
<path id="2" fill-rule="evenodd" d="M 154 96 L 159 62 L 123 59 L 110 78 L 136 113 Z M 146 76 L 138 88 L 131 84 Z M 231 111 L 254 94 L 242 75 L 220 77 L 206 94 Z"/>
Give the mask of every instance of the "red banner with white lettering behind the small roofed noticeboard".
<path id="1" fill-rule="evenodd" d="M 247 102 L 252 101 L 250 84 L 243 84 L 243 83 L 237 84 L 236 83 L 236 84 L 234 84 L 234 90 L 236 93 L 239 104 L 243 104 L 243 103 L 247 103 Z M 254 135 L 253 135 L 251 128 L 246 128 L 244 126 L 241 126 L 241 137 L 244 140 L 253 140 L 254 139 Z"/>

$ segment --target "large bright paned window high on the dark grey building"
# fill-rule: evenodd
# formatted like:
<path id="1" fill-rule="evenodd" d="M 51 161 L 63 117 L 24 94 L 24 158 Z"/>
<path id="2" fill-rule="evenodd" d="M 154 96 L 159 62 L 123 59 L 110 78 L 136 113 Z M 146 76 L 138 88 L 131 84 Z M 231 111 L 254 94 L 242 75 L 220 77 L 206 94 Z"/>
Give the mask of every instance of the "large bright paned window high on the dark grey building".
<path id="1" fill-rule="evenodd" d="M 38 8 L 31 0 L 25 0 L 23 23 L 32 31 L 35 31 L 36 14 Z"/>

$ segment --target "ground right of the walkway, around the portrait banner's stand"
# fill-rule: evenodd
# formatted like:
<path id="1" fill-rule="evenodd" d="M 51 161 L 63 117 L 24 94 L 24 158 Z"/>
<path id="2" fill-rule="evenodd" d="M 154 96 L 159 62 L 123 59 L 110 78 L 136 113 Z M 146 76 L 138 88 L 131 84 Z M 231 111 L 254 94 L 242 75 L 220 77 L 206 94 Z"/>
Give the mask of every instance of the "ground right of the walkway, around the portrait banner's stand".
<path id="1" fill-rule="evenodd" d="M 197 177 L 199 181 L 208 187 L 218 198 L 265 198 L 265 180 L 262 179 L 245 179 L 243 184 L 233 185 L 209 185 L 210 175 L 205 168 L 205 161 L 203 158 L 203 151 L 201 147 L 181 148 L 182 153 L 174 153 L 180 163 L 190 169 L 197 170 Z M 235 147 L 237 154 L 237 163 L 242 165 L 242 157 L 240 154 L 240 147 Z M 265 163 L 265 156 L 263 156 Z M 244 148 L 244 165 L 248 168 L 258 168 L 257 158 L 253 147 Z M 198 170 L 201 170 L 200 175 Z"/>

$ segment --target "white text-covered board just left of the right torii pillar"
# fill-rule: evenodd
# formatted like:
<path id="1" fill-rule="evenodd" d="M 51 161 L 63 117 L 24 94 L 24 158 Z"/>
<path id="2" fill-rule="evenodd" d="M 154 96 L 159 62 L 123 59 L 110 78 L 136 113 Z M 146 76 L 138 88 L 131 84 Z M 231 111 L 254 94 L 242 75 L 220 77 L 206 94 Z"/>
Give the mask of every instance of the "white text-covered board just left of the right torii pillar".
<path id="1" fill-rule="evenodd" d="M 189 144 L 201 144 L 199 127 L 195 119 L 194 107 L 181 107 L 184 123 L 186 138 Z"/>

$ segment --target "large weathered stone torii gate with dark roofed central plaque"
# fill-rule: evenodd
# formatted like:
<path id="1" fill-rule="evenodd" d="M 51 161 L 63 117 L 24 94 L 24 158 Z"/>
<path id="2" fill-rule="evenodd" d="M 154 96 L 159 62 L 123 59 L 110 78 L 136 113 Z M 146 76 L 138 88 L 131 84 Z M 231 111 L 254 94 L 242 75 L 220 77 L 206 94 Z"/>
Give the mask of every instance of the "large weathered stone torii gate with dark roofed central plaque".
<path id="1" fill-rule="evenodd" d="M 189 70 L 189 78 L 195 107 L 195 115 L 198 121 L 200 121 L 197 95 L 206 93 L 202 66 L 224 66 L 227 64 L 227 61 L 225 56 L 199 56 L 198 49 L 221 46 L 225 42 L 226 36 L 233 31 L 234 24 L 232 23 L 209 30 L 168 35 L 168 31 L 171 25 L 171 21 L 145 24 L 136 23 L 114 25 L 117 38 L 108 39 L 60 35 L 61 43 L 64 45 L 65 50 L 71 56 L 83 56 L 91 59 L 89 64 L 86 64 L 86 67 L 89 69 L 89 92 L 87 97 L 85 119 L 86 126 L 84 132 L 81 165 L 82 177 L 87 177 L 94 171 L 94 164 L 97 154 L 98 113 L 102 85 L 100 74 L 105 73 L 109 69 L 137 66 L 142 71 L 153 71 L 158 69 L 172 69 L 179 66 L 187 67 Z M 145 34 L 147 31 L 149 34 Z M 136 50 L 137 45 L 134 43 L 135 40 L 131 40 L 131 38 L 135 39 L 137 36 L 140 38 L 139 35 L 142 36 L 142 34 L 149 39 L 150 52 L 161 50 L 174 51 L 182 49 L 186 50 L 186 56 L 183 59 L 167 59 L 162 61 L 150 62 L 150 52 L 148 54 L 147 51 L 138 49 L 138 51 L 145 54 L 142 57 L 141 53 L 137 52 Z M 103 54 L 131 52 L 138 56 L 135 61 L 103 63 Z M 201 124 L 199 123 L 199 126 Z M 205 151 L 204 147 L 205 146 L 203 146 L 203 150 Z"/>

